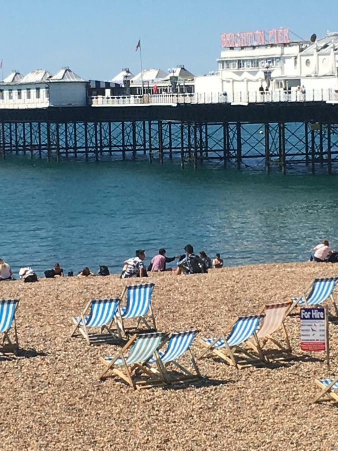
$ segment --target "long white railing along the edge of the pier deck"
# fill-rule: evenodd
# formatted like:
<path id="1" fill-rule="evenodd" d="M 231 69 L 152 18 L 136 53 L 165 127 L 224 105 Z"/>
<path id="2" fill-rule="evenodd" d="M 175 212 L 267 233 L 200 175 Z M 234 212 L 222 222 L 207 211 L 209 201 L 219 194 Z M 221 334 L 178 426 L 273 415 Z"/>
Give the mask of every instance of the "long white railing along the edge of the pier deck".
<path id="1" fill-rule="evenodd" d="M 300 91 L 238 91 L 233 93 L 144 94 L 130 96 L 91 97 L 93 106 L 180 105 L 211 103 L 271 103 L 271 102 L 338 102 L 338 90 L 312 89 Z"/>

